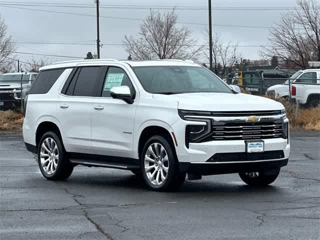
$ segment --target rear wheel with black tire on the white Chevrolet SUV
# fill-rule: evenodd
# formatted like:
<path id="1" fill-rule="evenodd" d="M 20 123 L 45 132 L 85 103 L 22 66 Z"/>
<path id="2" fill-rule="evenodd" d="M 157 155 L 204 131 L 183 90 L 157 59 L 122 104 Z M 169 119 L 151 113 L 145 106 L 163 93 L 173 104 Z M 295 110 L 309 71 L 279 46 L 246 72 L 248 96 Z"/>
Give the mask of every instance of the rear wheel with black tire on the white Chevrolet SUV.
<path id="1" fill-rule="evenodd" d="M 52 131 L 42 135 L 37 159 L 42 175 L 48 180 L 65 180 L 73 171 L 73 165 L 67 158 L 60 138 Z"/>

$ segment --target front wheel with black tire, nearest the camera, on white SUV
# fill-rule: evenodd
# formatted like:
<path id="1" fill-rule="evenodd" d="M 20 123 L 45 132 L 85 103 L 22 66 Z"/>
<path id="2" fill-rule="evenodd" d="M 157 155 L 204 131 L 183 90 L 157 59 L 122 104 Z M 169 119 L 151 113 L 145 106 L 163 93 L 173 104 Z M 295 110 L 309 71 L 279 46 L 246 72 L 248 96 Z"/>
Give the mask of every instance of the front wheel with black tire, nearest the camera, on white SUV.
<path id="1" fill-rule="evenodd" d="M 160 135 L 152 136 L 145 142 L 140 169 L 146 185 L 155 191 L 176 190 L 186 174 L 179 172 L 179 163 L 170 143 Z"/>

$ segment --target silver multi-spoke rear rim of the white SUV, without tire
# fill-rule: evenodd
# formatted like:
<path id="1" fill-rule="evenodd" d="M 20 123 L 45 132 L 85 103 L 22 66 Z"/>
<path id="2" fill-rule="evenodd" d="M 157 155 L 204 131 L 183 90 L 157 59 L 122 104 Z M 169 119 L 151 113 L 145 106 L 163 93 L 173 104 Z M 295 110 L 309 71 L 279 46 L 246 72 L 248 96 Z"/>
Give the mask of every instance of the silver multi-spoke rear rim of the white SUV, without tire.
<path id="1" fill-rule="evenodd" d="M 40 149 L 41 167 L 46 174 L 53 174 L 59 160 L 58 147 L 51 137 L 43 140 Z"/>

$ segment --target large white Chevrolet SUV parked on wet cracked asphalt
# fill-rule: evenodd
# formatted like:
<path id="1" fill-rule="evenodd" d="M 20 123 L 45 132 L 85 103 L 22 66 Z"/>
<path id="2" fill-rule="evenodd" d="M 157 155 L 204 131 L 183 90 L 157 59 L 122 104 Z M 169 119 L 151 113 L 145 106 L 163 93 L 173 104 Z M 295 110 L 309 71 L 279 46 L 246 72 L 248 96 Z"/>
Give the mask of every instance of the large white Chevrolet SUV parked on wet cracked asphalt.
<path id="1" fill-rule="evenodd" d="M 58 62 L 40 68 L 25 104 L 24 142 L 50 180 L 80 164 L 131 170 L 154 190 L 186 173 L 266 185 L 290 151 L 281 103 L 238 93 L 191 61 Z"/>

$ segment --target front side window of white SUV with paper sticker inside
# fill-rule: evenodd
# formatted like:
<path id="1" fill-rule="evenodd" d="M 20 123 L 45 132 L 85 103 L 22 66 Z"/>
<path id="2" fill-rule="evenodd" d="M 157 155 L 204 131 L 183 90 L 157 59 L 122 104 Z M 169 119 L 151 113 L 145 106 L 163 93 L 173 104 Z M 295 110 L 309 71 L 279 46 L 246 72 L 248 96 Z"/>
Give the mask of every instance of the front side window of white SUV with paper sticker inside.
<path id="1" fill-rule="evenodd" d="M 134 91 L 130 78 L 125 71 L 120 67 L 110 66 L 105 75 L 101 96 L 111 97 L 110 89 L 112 86 L 128 86 L 130 92 Z"/>

